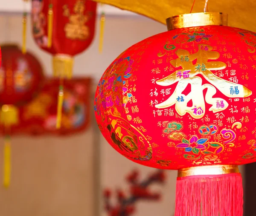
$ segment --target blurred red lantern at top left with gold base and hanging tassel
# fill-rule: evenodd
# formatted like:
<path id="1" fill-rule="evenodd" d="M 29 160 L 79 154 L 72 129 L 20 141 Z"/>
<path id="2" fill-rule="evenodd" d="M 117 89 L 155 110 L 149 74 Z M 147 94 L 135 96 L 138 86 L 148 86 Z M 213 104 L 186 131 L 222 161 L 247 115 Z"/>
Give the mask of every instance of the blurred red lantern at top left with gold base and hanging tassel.
<path id="1" fill-rule="evenodd" d="M 35 42 L 53 55 L 53 75 L 60 78 L 57 128 L 61 126 L 63 79 L 71 78 L 73 56 L 93 40 L 96 3 L 90 0 L 32 0 Z"/>

